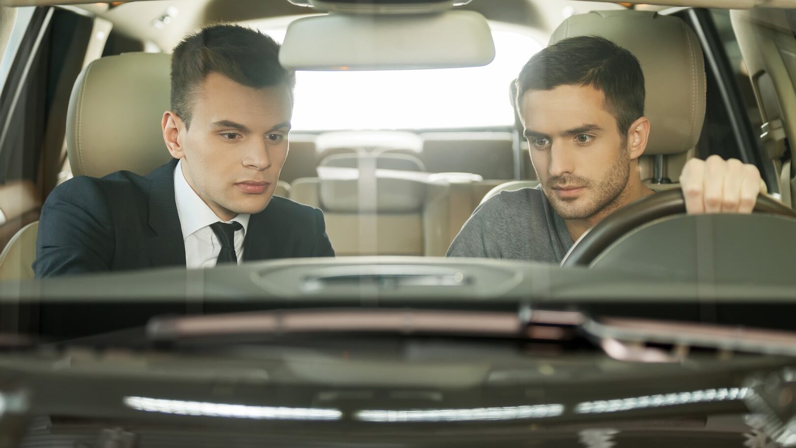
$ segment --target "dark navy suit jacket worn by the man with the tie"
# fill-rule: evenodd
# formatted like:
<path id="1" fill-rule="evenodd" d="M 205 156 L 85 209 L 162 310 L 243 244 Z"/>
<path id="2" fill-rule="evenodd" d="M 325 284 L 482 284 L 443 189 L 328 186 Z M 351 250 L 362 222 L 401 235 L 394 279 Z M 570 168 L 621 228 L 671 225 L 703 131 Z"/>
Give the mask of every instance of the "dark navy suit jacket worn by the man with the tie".
<path id="1" fill-rule="evenodd" d="M 185 266 L 174 167 L 149 175 L 117 171 L 102 179 L 69 179 L 41 210 L 36 277 L 94 271 Z M 321 210 L 274 196 L 252 214 L 244 261 L 334 257 Z"/>

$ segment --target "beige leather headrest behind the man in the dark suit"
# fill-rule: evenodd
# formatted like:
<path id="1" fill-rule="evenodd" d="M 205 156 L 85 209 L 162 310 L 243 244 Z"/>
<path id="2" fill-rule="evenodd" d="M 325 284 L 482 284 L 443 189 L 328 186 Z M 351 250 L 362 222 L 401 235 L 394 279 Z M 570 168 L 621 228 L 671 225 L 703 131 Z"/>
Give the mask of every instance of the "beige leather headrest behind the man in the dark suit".
<path id="1" fill-rule="evenodd" d="M 160 128 L 170 109 L 170 63 L 165 53 L 125 53 L 80 73 L 66 117 L 74 175 L 146 175 L 171 159 Z"/>

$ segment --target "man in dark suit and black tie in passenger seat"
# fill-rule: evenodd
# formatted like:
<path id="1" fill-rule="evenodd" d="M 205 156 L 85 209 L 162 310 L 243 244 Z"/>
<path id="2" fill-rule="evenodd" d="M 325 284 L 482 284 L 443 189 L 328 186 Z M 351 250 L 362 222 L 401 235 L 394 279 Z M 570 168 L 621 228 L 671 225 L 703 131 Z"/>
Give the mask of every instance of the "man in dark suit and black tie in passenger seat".
<path id="1" fill-rule="evenodd" d="M 174 159 L 61 184 L 41 211 L 37 277 L 283 257 L 333 257 L 321 210 L 273 197 L 294 73 L 279 44 L 217 25 L 174 49 L 163 140 Z"/>

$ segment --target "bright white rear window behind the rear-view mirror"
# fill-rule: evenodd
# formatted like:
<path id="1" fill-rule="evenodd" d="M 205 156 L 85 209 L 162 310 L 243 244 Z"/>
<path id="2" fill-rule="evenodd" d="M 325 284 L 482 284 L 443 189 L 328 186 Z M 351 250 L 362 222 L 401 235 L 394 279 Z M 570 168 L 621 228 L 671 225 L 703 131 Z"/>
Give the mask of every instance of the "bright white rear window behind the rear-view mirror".
<path id="1" fill-rule="evenodd" d="M 509 84 L 542 46 L 521 27 L 491 26 L 495 58 L 483 67 L 296 73 L 293 129 L 513 126 Z M 261 29 L 283 41 L 285 27 Z"/>

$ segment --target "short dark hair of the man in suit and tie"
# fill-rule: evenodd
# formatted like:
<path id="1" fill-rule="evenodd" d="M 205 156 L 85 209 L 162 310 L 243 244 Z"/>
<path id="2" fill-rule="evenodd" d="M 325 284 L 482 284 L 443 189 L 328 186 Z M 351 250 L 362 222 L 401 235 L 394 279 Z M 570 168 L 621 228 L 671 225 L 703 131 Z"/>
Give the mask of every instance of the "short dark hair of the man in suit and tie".
<path id="1" fill-rule="evenodd" d="M 295 73 L 279 65 L 279 44 L 271 37 L 243 26 L 207 26 L 185 36 L 171 55 L 171 110 L 186 127 L 197 88 L 211 72 L 252 88 L 284 83 L 292 93 L 295 86 Z"/>

